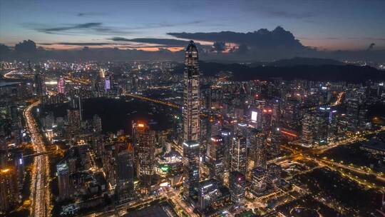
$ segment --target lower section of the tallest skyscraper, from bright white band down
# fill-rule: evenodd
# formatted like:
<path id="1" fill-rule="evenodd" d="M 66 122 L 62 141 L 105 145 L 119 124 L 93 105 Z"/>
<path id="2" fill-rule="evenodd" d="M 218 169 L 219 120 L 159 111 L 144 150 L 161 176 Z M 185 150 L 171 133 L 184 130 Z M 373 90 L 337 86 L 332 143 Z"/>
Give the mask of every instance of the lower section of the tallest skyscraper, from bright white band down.
<path id="1" fill-rule="evenodd" d="M 183 197 L 190 200 L 193 188 L 199 182 L 199 143 L 183 142 Z"/>

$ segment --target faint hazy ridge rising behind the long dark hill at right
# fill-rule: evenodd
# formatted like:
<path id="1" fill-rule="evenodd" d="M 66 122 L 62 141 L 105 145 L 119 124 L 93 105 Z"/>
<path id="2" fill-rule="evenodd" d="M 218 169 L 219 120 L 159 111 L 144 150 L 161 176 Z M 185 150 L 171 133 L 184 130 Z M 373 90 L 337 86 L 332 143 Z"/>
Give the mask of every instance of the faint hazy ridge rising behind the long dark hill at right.
<path id="1" fill-rule="evenodd" d="M 344 63 L 334 59 L 319 59 L 319 58 L 305 58 L 305 57 L 294 57 L 292 59 L 282 59 L 274 61 L 269 66 L 323 66 L 323 65 L 337 65 L 341 66 Z"/>

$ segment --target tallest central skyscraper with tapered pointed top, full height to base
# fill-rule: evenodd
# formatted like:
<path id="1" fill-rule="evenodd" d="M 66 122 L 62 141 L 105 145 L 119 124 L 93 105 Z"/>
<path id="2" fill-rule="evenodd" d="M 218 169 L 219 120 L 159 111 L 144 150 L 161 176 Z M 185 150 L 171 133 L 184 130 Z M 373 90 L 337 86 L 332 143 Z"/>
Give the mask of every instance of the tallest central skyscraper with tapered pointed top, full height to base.
<path id="1" fill-rule="evenodd" d="M 186 200 L 199 182 L 199 77 L 197 46 L 190 41 L 185 51 L 183 78 L 183 196 Z"/>

